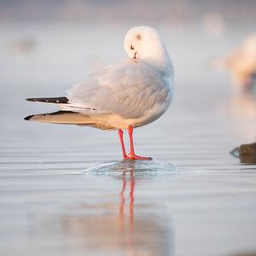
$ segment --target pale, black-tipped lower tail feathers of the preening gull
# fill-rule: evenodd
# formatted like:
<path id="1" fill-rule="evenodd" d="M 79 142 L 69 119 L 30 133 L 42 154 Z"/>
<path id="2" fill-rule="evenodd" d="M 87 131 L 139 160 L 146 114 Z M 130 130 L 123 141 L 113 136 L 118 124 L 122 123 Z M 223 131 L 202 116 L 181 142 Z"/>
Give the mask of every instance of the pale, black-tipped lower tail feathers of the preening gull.
<path id="1" fill-rule="evenodd" d="M 93 125 L 90 116 L 65 110 L 53 113 L 33 114 L 27 116 L 25 120 L 62 125 Z"/>

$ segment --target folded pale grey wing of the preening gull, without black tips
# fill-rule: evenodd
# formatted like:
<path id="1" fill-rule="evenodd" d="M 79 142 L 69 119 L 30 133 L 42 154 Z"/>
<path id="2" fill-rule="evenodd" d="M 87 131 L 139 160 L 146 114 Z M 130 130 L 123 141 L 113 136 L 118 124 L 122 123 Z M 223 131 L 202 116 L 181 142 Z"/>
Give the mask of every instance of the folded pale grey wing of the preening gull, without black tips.
<path id="1" fill-rule="evenodd" d="M 72 108 L 95 109 L 137 119 L 159 107 L 169 95 L 169 84 L 154 68 L 143 63 L 122 63 L 91 73 L 67 91 Z"/>

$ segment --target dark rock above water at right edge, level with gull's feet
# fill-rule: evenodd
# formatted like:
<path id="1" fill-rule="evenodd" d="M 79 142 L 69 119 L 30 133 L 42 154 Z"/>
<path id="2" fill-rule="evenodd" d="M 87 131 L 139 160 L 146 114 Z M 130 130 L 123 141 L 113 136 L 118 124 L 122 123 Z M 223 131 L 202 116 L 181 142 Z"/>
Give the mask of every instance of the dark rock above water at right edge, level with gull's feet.
<path id="1" fill-rule="evenodd" d="M 234 148 L 230 154 L 239 157 L 241 163 L 256 164 L 256 143 L 241 144 L 239 148 Z"/>

